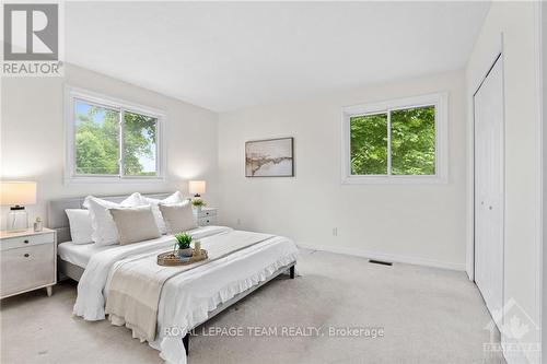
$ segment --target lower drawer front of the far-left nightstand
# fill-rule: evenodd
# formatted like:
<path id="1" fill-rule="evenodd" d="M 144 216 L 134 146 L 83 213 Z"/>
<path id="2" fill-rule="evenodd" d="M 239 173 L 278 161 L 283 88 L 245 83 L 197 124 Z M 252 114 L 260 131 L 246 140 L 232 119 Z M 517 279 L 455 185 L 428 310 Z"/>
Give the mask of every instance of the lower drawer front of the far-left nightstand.
<path id="1" fill-rule="evenodd" d="M 47 236 L 53 235 L 47 234 Z M 56 281 L 54 267 L 55 245 L 53 243 L 2 251 L 1 296 L 54 284 Z"/>

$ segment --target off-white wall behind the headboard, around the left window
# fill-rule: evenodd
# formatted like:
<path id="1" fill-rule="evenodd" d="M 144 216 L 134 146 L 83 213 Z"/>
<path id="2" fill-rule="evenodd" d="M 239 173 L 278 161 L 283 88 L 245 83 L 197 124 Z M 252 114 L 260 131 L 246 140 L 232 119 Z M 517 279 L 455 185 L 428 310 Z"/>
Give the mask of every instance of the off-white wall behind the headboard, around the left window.
<path id="1" fill-rule="evenodd" d="M 63 185 L 65 84 L 164 110 L 165 183 Z M 214 204 L 218 186 L 216 113 L 70 64 L 63 79 L 3 78 L 1 97 L 1 178 L 38 183 L 38 203 L 28 207 L 30 219 L 46 216 L 46 202 L 50 199 L 177 189 L 187 193 L 187 180 L 193 178 L 207 180 L 205 197 Z M 7 211 L 2 207 L 2 228 Z"/>

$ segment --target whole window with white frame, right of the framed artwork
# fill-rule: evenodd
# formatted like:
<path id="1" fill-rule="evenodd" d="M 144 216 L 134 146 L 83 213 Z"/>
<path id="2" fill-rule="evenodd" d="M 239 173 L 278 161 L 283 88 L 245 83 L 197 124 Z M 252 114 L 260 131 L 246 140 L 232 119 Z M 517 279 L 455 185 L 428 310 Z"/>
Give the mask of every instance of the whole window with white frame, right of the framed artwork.
<path id="1" fill-rule="evenodd" d="M 446 99 L 344 108 L 342 183 L 446 183 Z"/>

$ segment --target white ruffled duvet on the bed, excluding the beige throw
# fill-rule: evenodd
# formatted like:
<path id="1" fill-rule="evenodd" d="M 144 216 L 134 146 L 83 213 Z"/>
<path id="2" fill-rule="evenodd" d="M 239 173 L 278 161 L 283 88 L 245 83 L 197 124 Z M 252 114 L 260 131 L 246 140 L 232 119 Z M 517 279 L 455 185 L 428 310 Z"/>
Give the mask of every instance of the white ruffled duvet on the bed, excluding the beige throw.
<path id="1" fill-rule="evenodd" d="M 206 226 L 193 231 L 191 235 L 203 239 L 202 245 L 207 249 L 208 244 L 214 244 L 214 235 L 230 231 L 230 227 L 224 226 Z M 173 236 L 162 236 L 95 254 L 78 284 L 74 315 L 86 320 L 104 319 L 104 294 L 107 292 L 115 263 L 163 247 L 168 250 L 174 243 Z M 221 303 L 267 280 L 279 268 L 295 261 L 296 254 L 294 243 L 275 236 L 168 280 L 160 296 L 156 338 L 150 345 L 159 350 L 160 356 L 167 363 L 185 364 L 186 353 L 182 338 L 186 332 L 206 321 L 208 313 Z"/>

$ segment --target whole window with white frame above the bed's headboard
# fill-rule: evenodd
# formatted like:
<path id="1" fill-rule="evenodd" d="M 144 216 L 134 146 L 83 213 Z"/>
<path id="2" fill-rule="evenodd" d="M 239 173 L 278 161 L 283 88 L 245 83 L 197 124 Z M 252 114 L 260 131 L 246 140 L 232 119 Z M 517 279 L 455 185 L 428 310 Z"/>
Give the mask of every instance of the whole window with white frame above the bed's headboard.
<path id="1" fill-rule="evenodd" d="M 73 89 L 67 94 L 68 179 L 163 177 L 160 111 Z"/>

